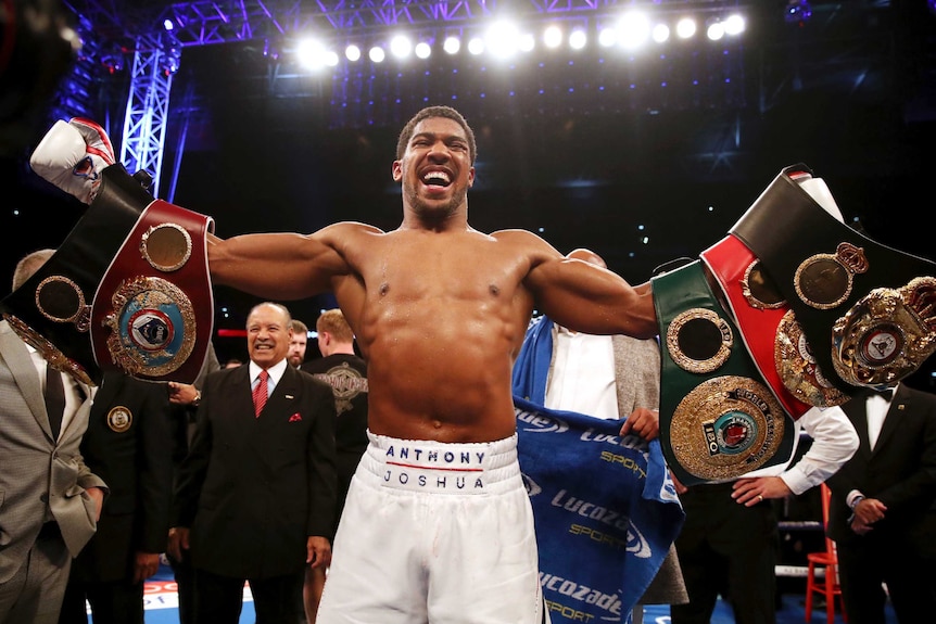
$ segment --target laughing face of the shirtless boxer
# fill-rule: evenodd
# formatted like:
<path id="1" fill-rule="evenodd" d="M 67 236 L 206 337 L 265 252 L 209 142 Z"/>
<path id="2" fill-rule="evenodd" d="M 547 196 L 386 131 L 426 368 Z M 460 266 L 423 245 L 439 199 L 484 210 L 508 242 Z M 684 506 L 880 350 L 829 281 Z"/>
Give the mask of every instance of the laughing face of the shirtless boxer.
<path id="1" fill-rule="evenodd" d="M 475 167 L 464 128 L 445 117 L 419 122 L 403 156 L 393 162 L 393 179 L 403 183 L 404 217 L 439 222 L 458 211 L 467 214 Z"/>

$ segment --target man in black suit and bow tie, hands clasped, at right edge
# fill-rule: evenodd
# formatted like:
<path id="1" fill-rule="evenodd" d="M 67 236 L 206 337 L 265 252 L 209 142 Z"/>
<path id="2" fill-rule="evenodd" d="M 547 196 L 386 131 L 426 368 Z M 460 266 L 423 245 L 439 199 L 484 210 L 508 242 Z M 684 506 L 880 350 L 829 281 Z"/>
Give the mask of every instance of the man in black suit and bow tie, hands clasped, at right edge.
<path id="1" fill-rule="evenodd" d="M 894 390 L 843 406 L 860 445 L 829 480 L 849 624 L 884 624 L 882 583 L 901 624 L 936 616 L 936 395 Z"/>

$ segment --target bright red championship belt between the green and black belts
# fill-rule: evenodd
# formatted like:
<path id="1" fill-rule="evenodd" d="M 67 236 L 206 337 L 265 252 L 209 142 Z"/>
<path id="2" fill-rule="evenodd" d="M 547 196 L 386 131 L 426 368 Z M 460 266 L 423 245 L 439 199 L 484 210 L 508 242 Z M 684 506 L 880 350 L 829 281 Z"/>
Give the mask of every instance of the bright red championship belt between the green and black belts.
<path id="1" fill-rule="evenodd" d="M 822 375 L 789 304 L 744 243 L 729 234 L 700 258 L 721 286 L 761 378 L 794 420 L 811 406 L 848 400 Z"/>

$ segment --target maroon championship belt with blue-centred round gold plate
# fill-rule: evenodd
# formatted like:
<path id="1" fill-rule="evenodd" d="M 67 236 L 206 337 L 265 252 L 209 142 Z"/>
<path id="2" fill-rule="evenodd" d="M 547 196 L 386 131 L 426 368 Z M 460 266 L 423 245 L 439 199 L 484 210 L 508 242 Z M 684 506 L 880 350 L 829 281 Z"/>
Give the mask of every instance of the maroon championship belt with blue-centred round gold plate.
<path id="1" fill-rule="evenodd" d="M 106 182 L 94 203 L 134 201 Z M 94 359 L 139 379 L 191 383 L 214 326 L 205 242 L 214 220 L 162 200 L 141 207 L 94 294 Z"/>

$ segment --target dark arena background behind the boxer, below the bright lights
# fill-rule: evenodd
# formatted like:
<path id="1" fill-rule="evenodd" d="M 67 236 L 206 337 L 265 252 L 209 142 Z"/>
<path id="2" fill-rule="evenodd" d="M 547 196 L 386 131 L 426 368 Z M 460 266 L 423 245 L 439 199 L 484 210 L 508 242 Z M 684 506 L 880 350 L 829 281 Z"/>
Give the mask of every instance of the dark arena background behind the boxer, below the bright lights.
<path id="1" fill-rule="evenodd" d="M 390 178 L 396 135 L 422 105 L 451 104 L 478 136 L 475 228 L 539 231 L 562 253 L 590 247 L 631 282 L 697 257 L 795 163 L 822 177 L 869 235 L 936 257 L 936 16 L 927 3 L 813 2 L 802 24 L 783 18 L 786 2 L 738 4 L 748 5 L 748 31 L 723 59 L 688 49 L 631 61 L 583 54 L 463 61 L 457 73 L 439 59 L 342 81 L 294 72 L 256 41 L 189 47 L 170 102 L 174 114 L 195 114 L 184 145 L 169 123 L 162 188 L 175 163 L 178 175 L 174 194 L 160 196 L 212 215 L 224 238 L 337 220 L 392 229 L 402 214 Z M 97 86 L 98 120 L 115 142 L 126 74 Z M 695 84 L 682 79 L 690 74 Z M 28 170 L 42 132 L 0 161 L 7 283 L 20 257 L 59 245 L 84 212 Z M 252 303 L 216 288 L 216 328 L 241 329 Z M 288 305 L 313 327 L 333 302 Z M 245 358 L 243 339 L 216 346 L 223 360 Z M 933 390 L 932 368 L 908 383 Z"/>

